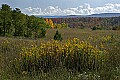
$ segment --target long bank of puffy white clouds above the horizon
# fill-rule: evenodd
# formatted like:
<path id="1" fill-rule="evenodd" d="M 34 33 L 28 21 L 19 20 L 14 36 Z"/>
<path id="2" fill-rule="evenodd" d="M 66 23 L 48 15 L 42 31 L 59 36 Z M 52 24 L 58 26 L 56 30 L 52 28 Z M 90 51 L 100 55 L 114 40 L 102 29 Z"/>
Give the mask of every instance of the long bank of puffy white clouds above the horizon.
<path id="1" fill-rule="evenodd" d="M 120 13 L 120 4 L 105 4 L 101 7 L 92 8 L 90 4 L 83 4 L 76 8 L 61 9 L 58 6 L 48 6 L 44 10 L 41 8 L 28 7 L 22 10 L 29 15 L 90 15 L 99 13 Z"/>

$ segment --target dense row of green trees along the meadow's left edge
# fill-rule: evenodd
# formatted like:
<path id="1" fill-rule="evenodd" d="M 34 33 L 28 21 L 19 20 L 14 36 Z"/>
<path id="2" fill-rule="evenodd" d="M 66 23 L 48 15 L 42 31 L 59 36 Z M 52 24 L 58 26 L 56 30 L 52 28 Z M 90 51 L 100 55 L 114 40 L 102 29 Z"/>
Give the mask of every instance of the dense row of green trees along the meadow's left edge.
<path id="1" fill-rule="evenodd" d="M 0 36 L 44 37 L 50 28 L 43 18 L 23 14 L 19 8 L 7 4 L 0 7 Z"/>

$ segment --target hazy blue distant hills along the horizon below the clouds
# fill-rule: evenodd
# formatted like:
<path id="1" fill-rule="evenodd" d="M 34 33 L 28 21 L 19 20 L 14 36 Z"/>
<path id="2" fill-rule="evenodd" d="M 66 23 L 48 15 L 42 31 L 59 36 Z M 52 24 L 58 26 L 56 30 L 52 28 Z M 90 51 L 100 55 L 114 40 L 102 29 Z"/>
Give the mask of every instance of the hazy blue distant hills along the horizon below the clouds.
<path id="1" fill-rule="evenodd" d="M 64 16 L 47 16 L 47 15 L 35 15 L 40 18 L 79 18 L 79 17 L 119 17 L 120 13 L 100 13 L 92 15 L 64 15 Z"/>

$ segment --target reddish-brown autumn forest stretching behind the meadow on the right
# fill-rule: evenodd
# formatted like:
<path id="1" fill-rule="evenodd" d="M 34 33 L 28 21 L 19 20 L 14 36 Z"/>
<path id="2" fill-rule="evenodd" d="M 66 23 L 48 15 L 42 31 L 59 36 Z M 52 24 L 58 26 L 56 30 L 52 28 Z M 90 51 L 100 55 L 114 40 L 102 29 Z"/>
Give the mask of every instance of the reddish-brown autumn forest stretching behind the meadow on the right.
<path id="1" fill-rule="evenodd" d="M 120 17 L 76 17 L 51 18 L 54 23 L 65 23 L 70 28 L 95 28 L 99 30 L 120 30 Z"/>

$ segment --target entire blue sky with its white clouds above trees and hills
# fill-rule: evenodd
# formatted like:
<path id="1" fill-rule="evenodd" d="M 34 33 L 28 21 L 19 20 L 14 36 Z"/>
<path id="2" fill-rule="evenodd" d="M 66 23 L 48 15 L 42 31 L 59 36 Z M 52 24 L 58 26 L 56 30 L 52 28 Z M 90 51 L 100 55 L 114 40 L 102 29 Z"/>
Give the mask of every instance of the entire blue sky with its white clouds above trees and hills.
<path id="1" fill-rule="evenodd" d="M 120 0 L 0 0 L 28 15 L 120 13 Z"/>

